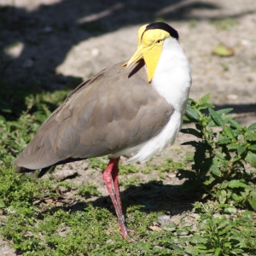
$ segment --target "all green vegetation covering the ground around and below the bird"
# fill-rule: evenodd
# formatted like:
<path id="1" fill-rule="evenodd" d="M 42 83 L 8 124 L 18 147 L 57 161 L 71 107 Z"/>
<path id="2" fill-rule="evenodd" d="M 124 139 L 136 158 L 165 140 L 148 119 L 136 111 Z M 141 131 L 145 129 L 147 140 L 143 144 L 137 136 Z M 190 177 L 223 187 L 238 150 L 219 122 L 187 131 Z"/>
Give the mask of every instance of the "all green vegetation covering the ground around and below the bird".
<path id="1" fill-rule="evenodd" d="M 160 164 L 152 160 L 142 166 L 121 165 L 126 222 L 137 231 L 131 233 L 136 240 L 131 243 L 120 236 L 109 197 L 101 195 L 93 180 L 78 186 L 72 179 L 55 181 L 51 174 L 36 179 L 15 173 L 9 165 L 68 92 L 39 91 L 37 96 L 26 92 L 17 118 L 15 102 L 20 97 L 4 91 L 0 102 L 0 236 L 18 253 L 256 254 L 255 124 L 241 127 L 227 115 L 231 109 L 213 110 L 209 95 L 197 102 L 189 100 L 184 119 L 190 125 L 182 131 L 195 136 L 195 141 L 185 143 L 195 153 Z M 107 158 L 92 159 L 90 168 L 101 175 L 107 162 Z M 164 184 L 173 173 L 186 179 L 183 185 Z M 143 177 L 150 177 L 149 181 Z"/>

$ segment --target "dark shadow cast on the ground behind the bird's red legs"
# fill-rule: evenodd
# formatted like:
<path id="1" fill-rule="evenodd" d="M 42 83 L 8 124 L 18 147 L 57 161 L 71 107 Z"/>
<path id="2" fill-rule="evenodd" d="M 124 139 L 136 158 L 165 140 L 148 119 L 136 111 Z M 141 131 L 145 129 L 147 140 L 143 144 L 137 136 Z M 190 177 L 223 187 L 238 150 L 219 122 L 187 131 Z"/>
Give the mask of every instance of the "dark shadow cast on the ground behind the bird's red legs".
<path id="1" fill-rule="evenodd" d="M 140 206 L 139 211 L 146 213 L 167 212 L 170 216 L 180 215 L 192 210 L 198 195 L 195 191 L 182 192 L 180 187 L 181 185 L 169 185 L 157 181 L 130 186 L 120 193 L 124 214 L 126 209 L 131 206 Z M 96 200 L 90 202 L 75 201 L 71 206 L 50 207 L 45 213 L 54 213 L 60 208 L 71 214 L 73 212 L 83 212 L 88 204 L 93 207 L 107 208 L 109 212 L 115 215 L 109 195 L 97 197 Z M 40 218 L 44 218 L 44 215 L 40 214 Z"/>

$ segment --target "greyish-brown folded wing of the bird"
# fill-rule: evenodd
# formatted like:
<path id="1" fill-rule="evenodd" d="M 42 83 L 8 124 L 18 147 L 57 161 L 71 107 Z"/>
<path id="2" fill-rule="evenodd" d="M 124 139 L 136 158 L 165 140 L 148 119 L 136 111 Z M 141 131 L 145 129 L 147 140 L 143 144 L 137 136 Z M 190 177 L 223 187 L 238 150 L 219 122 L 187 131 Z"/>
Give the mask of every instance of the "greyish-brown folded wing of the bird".
<path id="1" fill-rule="evenodd" d="M 148 84 L 143 65 L 121 63 L 98 73 L 67 97 L 15 160 L 36 170 L 65 160 L 115 154 L 157 135 L 172 106 Z"/>

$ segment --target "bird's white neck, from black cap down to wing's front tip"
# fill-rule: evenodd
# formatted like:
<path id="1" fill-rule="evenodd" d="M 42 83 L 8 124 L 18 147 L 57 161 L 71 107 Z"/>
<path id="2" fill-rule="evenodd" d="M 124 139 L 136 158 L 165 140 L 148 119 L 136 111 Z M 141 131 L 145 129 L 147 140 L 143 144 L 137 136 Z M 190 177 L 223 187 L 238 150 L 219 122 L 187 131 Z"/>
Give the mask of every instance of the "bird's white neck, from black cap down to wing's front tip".
<path id="1" fill-rule="evenodd" d="M 191 86 L 191 69 L 177 39 L 166 38 L 152 85 L 175 111 L 184 112 Z"/>

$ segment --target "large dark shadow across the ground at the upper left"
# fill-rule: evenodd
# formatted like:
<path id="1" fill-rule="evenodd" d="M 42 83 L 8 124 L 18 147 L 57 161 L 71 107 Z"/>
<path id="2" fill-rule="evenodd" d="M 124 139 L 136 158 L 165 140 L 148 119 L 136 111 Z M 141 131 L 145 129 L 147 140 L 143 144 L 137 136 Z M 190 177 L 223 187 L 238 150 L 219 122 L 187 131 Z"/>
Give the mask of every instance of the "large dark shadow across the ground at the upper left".
<path id="1" fill-rule="evenodd" d="M 65 60 L 72 46 L 81 41 L 154 20 L 207 19 L 191 15 L 193 9 L 219 7 L 189 0 L 68 0 L 41 5 L 33 11 L 0 6 L 0 87 L 10 90 L 9 94 L 0 93 L 0 102 L 14 101 L 11 90 L 18 88 L 22 90 L 20 98 L 24 99 L 27 94 L 42 90 L 76 87 L 81 82 L 78 78 L 57 74 L 55 67 Z M 20 54 L 6 54 L 6 49 L 15 44 L 20 45 Z"/>

